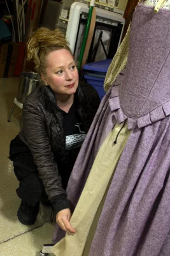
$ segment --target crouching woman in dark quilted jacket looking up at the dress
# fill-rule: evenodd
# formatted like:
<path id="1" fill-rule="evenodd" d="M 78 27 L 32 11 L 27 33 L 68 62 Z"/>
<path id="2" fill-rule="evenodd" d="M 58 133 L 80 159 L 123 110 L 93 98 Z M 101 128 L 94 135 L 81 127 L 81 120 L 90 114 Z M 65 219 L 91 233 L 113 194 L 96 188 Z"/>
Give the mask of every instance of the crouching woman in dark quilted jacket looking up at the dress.
<path id="1" fill-rule="evenodd" d="M 57 220 L 63 209 L 71 215 L 65 189 L 100 100 L 92 86 L 79 84 L 73 54 L 59 29 L 39 28 L 27 52 L 46 86 L 25 99 L 23 128 L 11 141 L 10 159 L 20 181 L 18 220 L 32 225 L 40 200 L 52 202 Z"/>

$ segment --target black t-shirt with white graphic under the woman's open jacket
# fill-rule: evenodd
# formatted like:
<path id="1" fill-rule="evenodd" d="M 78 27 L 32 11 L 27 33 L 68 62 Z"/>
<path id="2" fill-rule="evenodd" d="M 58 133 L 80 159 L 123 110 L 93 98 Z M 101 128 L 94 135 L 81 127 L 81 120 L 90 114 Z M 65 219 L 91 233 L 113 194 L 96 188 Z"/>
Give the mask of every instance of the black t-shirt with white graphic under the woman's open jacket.
<path id="1" fill-rule="evenodd" d="M 62 110 L 62 116 L 62 124 L 66 134 L 66 152 L 57 164 L 62 177 L 62 186 L 66 189 L 69 176 L 71 175 L 76 157 L 85 140 L 86 134 L 83 131 L 80 118 L 76 113 L 75 103 L 73 103 L 68 113 Z"/>

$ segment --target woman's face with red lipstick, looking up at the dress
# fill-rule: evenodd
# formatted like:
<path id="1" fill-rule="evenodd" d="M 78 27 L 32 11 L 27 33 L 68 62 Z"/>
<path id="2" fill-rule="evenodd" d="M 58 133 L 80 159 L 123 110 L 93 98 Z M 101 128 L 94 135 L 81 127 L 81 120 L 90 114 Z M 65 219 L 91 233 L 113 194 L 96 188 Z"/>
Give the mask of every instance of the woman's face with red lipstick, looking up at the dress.
<path id="1" fill-rule="evenodd" d="M 66 49 L 52 51 L 46 57 L 46 83 L 54 93 L 72 95 L 78 88 L 78 70 Z"/>

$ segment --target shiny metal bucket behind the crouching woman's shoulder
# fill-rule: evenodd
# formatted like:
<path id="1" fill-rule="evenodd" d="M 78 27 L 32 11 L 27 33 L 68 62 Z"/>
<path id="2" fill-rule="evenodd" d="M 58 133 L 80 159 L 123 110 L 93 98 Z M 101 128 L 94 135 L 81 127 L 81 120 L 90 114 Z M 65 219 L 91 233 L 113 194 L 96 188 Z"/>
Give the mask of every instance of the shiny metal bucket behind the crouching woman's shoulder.
<path id="1" fill-rule="evenodd" d="M 22 72 L 18 86 L 17 100 L 23 103 L 27 95 L 39 85 L 39 76 L 34 72 Z"/>

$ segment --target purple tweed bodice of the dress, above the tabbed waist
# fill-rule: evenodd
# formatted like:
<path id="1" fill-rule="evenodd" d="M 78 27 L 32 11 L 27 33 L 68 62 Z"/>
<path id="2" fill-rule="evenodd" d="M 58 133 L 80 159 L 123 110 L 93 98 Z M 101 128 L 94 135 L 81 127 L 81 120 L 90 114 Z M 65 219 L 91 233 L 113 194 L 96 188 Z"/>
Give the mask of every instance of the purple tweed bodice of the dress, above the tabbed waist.
<path id="1" fill-rule="evenodd" d="M 120 86 L 120 106 L 139 118 L 170 106 L 170 10 L 138 4 L 132 17 L 129 56 Z M 165 109 L 164 109 L 165 108 Z M 170 114 L 170 113 L 169 113 Z"/>

